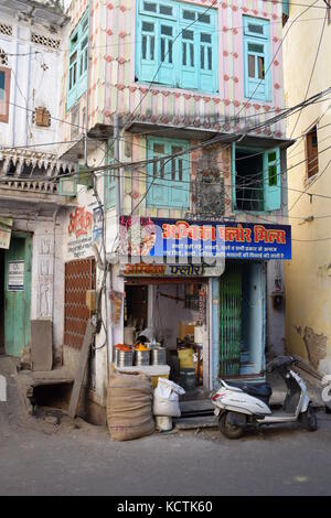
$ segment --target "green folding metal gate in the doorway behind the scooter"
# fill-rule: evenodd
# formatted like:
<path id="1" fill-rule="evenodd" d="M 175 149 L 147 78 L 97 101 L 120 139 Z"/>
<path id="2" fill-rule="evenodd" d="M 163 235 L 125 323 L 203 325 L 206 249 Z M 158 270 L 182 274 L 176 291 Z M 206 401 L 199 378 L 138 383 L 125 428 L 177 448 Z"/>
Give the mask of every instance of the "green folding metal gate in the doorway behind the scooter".
<path id="1" fill-rule="evenodd" d="M 220 278 L 220 376 L 237 376 L 242 348 L 242 265 L 227 262 Z"/>

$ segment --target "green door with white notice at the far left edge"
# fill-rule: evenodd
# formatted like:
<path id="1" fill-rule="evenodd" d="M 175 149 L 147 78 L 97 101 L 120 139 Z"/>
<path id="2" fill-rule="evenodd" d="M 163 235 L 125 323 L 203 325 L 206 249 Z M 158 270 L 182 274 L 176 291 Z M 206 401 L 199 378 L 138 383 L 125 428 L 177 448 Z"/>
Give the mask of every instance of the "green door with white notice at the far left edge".
<path id="1" fill-rule="evenodd" d="M 12 237 L 4 258 L 4 347 L 21 356 L 30 342 L 32 238 Z"/>

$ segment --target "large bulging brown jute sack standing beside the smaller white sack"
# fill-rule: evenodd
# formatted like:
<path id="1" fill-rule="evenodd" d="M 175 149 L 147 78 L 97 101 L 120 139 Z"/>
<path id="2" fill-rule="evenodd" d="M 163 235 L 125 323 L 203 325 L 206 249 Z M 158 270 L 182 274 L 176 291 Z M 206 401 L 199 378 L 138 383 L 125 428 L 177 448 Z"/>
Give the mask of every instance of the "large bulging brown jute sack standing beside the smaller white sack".
<path id="1" fill-rule="evenodd" d="M 110 373 L 107 422 L 114 441 L 153 433 L 152 397 L 152 384 L 145 374 Z"/>

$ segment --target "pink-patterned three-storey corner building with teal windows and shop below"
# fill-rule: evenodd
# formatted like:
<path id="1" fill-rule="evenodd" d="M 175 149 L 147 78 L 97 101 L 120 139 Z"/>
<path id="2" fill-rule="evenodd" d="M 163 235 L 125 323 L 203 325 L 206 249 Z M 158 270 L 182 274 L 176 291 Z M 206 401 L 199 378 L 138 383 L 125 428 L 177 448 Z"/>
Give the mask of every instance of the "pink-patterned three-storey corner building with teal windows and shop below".
<path id="1" fill-rule="evenodd" d="M 73 287 L 93 271 L 88 289 L 103 293 L 90 399 L 105 404 L 114 345 L 132 326 L 157 327 L 173 350 L 179 326 L 199 322 L 206 390 L 220 375 L 259 377 L 266 346 L 282 350 L 290 257 L 281 6 L 74 0 L 67 15 L 61 158 L 85 172 L 62 183 L 77 204 L 67 211 L 63 253 Z M 192 269 L 190 234 L 186 270 L 132 268 L 146 241 L 122 248 L 119 238 L 138 220 L 146 240 L 159 224 L 189 228 L 174 239 L 192 225 L 223 233 L 225 266 Z M 146 245 L 146 256 L 154 252 Z M 63 356 L 73 368 L 88 316 L 83 292 L 65 305 Z"/>

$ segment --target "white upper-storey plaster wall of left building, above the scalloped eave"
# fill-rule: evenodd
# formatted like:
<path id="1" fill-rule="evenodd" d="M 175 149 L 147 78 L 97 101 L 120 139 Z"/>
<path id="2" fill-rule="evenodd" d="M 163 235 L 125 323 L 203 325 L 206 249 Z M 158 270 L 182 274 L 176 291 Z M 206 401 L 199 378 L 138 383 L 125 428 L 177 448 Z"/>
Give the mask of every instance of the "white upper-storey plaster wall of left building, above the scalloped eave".
<path id="1" fill-rule="evenodd" d="M 56 141 L 58 131 L 58 77 L 63 71 L 63 53 L 33 43 L 31 37 L 32 33 L 36 33 L 58 41 L 60 44 L 61 34 L 3 13 L 1 23 L 10 26 L 12 34 L 0 33 L 0 48 L 9 54 L 8 67 L 11 69 L 9 123 L 0 122 L 0 145 L 50 143 L 40 148 L 39 153 L 55 153 L 56 147 L 51 143 Z M 39 106 L 45 107 L 51 114 L 49 128 L 39 128 L 32 120 L 32 111 Z"/>

